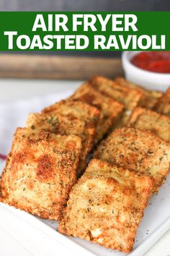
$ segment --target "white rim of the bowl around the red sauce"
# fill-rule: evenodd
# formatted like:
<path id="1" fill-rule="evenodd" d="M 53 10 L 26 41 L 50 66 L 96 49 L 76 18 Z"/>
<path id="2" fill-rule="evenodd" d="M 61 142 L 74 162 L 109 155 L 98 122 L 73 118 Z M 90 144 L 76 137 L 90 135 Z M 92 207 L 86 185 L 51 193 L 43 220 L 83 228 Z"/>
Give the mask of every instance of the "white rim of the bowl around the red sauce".
<path id="1" fill-rule="evenodd" d="M 169 73 L 158 73 L 158 72 L 151 72 L 151 71 L 148 71 L 148 70 L 145 70 L 145 69 L 140 69 L 140 67 L 136 67 L 135 65 L 133 65 L 131 62 L 130 62 L 130 59 L 128 58 L 128 55 L 130 54 L 139 54 L 140 52 L 147 52 L 147 51 L 122 51 L 122 65 L 125 68 L 125 65 L 126 66 L 129 66 L 130 69 L 133 69 L 134 72 L 141 72 L 143 73 L 143 75 L 149 75 L 150 77 L 151 76 L 154 76 L 154 77 L 170 77 L 170 74 Z"/>

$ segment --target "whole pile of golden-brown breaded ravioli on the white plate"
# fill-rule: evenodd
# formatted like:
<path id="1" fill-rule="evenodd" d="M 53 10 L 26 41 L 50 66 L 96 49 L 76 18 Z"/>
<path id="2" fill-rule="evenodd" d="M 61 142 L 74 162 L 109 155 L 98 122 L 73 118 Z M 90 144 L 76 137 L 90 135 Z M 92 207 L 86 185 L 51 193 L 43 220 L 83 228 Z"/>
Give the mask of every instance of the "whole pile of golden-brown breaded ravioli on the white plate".
<path id="1" fill-rule="evenodd" d="M 59 221 L 63 234 L 128 253 L 169 174 L 169 131 L 170 89 L 92 77 L 17 128 L 0 200 Z"/>

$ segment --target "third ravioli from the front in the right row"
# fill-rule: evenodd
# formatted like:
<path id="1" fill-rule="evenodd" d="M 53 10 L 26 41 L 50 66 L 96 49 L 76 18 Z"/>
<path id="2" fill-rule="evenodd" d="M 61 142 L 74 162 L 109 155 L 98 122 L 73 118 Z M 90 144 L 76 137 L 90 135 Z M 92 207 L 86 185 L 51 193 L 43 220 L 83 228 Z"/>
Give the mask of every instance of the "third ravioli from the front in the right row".
<path id="1" fill-rule="evenodd" d="M 128 120 L 128 127 L 148 129 L 161 139 L 170 142 L 170 117 L 146 108 L 134 108 Z"/>

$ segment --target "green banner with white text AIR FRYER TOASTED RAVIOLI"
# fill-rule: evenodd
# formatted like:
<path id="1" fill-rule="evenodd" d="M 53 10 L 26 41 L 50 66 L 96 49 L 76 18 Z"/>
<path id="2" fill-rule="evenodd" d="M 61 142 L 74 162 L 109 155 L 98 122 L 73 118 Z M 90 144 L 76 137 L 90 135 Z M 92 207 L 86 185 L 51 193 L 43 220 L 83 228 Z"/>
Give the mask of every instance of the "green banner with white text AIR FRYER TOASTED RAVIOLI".
<path id="1" fill-rule="evenodd" d="M 170 12 L 0 12 L 0 51 L 170 51 Z"/>

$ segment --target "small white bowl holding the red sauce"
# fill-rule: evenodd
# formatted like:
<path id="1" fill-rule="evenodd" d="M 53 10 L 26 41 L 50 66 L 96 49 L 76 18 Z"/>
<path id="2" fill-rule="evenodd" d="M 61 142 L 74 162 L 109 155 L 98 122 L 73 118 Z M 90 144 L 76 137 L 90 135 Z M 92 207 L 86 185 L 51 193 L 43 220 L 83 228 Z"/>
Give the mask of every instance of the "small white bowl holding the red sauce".
<path id="1" fill-rule="evenodd" d="M 170 87 L 170 74 L 149 72 L 135 67 L 130 60 L 140 51 L 123 51 L 122 67 L 128 81 L 141 85 L 150 90 L 165 91 Z"/>

